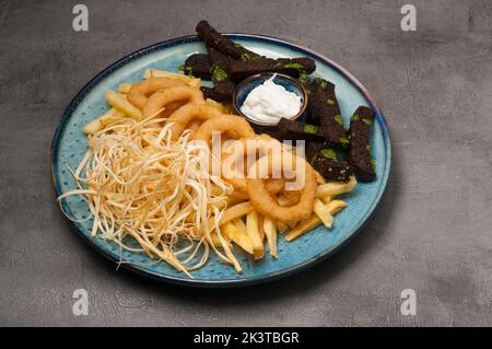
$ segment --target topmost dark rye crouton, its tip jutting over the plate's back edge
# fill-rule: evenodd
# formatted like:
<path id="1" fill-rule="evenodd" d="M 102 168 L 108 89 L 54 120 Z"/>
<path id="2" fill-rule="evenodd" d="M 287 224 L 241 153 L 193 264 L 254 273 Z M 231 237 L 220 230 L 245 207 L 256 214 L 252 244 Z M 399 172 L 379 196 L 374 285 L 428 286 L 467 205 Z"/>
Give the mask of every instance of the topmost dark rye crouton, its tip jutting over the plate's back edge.
<path id="1" fill-rule="evenodd" d="M 197 24 L 196 31 L 198 33 L 198 36 L 208 45 L 233 59 L 248 59 L 260 57 L 259 55 L 244 48 L 239 44 L 233 43 L 232 40 L 227 39 L 221 33 L 215 31 L 215 28 L 213 28 L 207 21 L 200 21 Z"/>

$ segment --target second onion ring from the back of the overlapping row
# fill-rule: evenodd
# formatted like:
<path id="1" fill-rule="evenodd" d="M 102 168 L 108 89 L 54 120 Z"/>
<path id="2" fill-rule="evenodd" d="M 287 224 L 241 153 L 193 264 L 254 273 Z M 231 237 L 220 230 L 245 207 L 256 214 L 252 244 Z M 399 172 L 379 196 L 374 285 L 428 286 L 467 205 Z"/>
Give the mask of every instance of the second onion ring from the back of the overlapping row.
<path id="1" fill-rule="evenodd" d="M 190 86 L 178 86 L 166 90 L 160 90 L 152 94 L 143 107 L 143 118 L 149 118 L 159 113 L 165 105 L 178 101 L 188 101 L 194 104 L 204 104 L 203 93 L 200 90 Z"/>

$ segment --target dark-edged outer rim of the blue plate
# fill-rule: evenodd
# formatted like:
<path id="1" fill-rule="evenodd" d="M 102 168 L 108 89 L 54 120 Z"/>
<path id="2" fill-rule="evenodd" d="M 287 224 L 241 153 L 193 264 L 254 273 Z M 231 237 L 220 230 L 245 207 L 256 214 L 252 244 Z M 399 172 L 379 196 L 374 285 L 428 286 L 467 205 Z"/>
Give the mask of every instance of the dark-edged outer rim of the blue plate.
<path id="1" fill-rule="evenodd" d="M 120 264 L 120 266 L 125 267 L 128 270 L 131 270 L 140 276 L 144 276 L 157 281 L 163 282 L 171 282 L 175 284 L 181 284 L 181 286 L 188 286 L 188 287 L 199 287 L 199 288 L 236 288 L 236 287 L 246 287 L 246 286 L 253 286 L 258 283 L 265 283 L 274 281 L 281 278 L 285 278 L 292 275 L 295 275 L 297 272 L 301 272 L 309 267 L 315 266 L 316 264 L 327 259 L 328 257 L 335 255 L 337 252 L 339 252 L 341 248 L 343 248 L 352 239 L 354 239 L 359 233 L 362 231 L 364 225 L 370 221 L 370 219 L 373 217 L 376 209 L 379 207 L 379 203 L 382 201 L 383 195 L 386 193 L 387 184 L 389 182 L 389 177 L 391 174 L 391 141 L 389 137 L 389 128 L 386 123 L 386 119 L 383 115 L 382 109 L 377 105 L 376 101 L 372 96 L 372 94 L 368 92 L 368 90 L 352 74 L 350 73 L 345 68 L 338 65 L 330 58 L 328 58 L 325 55 L 321 55 L 319 53 L 316 53 L 312 50 L 311 48 L 304 47 L 302 45 L 297 45 L 281 38 L 277 38 L 273 36 L 268 35 L 259 35 L 259 34 L 245 34 L 245 33 L 227 33 L 223 34 L 227 37 L 236 37 L 236 38 L 243 38 L 243 39 L 259 39 L 263 42 L 273 42 L 276 44 L 280 44 L 282 46 L 286 46 L 288 48 L 294 48 L 300 51 L 304 51 L 312 57 L 315 57 L 317 60 L 323 61 L 323 63 L 331 67 L 332 69 L 337 70 L 341 75 L 343 75 L 351 84 L 353 84 L 365 97 L 365 100 L 371 104 L 371 107 L 376 112 L 376 119 L 379 123 L 379 126 L 382 128 L 383 133 L 383 142 L 384 142 L 384 151 L 386 153 L 386 161 L 385 161 L 385 167 L 383 171 L 383 182 L 379 186 L 379 189 L 377 191 L 377 195 L 372 202 L 371 208 L 366 211 L 364 217 L 361 218 L 360 223 L 353 229 L 353 232 L 348 235 L 344 240 L 342 240 L 337 246 L 333 248 L 327 248 L 323 251 L 321 253 L 313 256 L 312 258 L 303 261 L 302 264 L 294 265 L 290 268 L 269 272 L 266 275 L 260 276 L 251 276 L 249 278 L 245 279 L 225 279 L 225 280 L 203 280 L 203 279 L 190 279 L 190 278 L 179 278 L 179 277 L 173 277 L 173 276 L 166 276 L 159 272 L 154 272 L 148 269 L 144 269 L 138 265 L 132 264 Z M 163 40 L 143 48 L 140 48 L 131 54 L 128 54 L 120 59 L 116 60 L 112 65 L 107 66 L 105 69 L 99 71 L 97 74 L 95 74 L 87 83 L 85 83 L 79 92 L 75 94 L 75 96 L 70 101 L 68 106 L 65 108 L 63 114 L 61 116 L 61 119 L 59 120 L 55 135 L 52 137 L 51 147 L 50 147 L 50 173 L 51 173 L 51 181 L 52 181 L 52 188 L 56 195 L 56 198 L 61 195 L 61 190 L 59 187 L 59 183 L 57 183 L 57 178 L 55 177 L 55 168 L 57 167 L 55 154 L 58 154 L 58 147 L 60 141 L 60 136 L 62 135 L 62 130 L 65 126 L 67 125 L 68 120 L 70 119 L 73 110 L 77 108 L 77 106 L 81 103 L 81 101 L 89 94 L 89 92 L 104 78 L 109 75 L 112 72 L 117 70 L 118 68 L 125 66 L 128 62 L 131 62 L 132 60 L 145 56 L 148 54 L 151 54 L 154 50 L 163 49 L 166 47 L 172 47 L 175 45 L 184 44 L 184 43 L 190 43 L 199 40 L 198 35 L 186 35 L 186 36 L 179 36 L 175 38 L 171 38 L 167 40 Z M 63 214 L 65 216 L 65 214 Z M 75 230 L 78 235 L 82 237 L 85 243 L 87 243 L 92 248 L 97 251 L 101 255 L 108 258 L 109 260 L 118 264 L 119 259 L 115 258 L 108 251 L 104 249 L 103 247 L 95 244 L 91 236 L 87 236 L 82 230 L 75 224 L 75 222 L 69 220 L 70 225 Z"/>

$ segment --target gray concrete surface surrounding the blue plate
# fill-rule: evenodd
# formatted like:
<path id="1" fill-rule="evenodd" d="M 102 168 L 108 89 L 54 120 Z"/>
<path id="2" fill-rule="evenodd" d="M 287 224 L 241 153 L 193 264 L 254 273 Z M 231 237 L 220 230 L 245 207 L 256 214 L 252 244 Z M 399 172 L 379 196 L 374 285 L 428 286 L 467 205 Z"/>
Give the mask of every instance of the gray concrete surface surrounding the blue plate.
<path id="1" fill-rule="evenodd" d="M 90 31 L 72 31 L 85 3 Z M 418 31 L 400 30 L 406 2 Z M 344 66 L 388 120 L 394 167 L 365 231 L 295 277 L 197 290 L 115 271 L 60 214 L 49 147 L 94 74 L 153 43 L 224 32 L 304 44 Z M 0 0 L 0 325 L 492 325 L 492 1 Z M 90 314 L 72 315 L 84 288 Z M 418 315 L 400 314 L 400 292 Z"/>

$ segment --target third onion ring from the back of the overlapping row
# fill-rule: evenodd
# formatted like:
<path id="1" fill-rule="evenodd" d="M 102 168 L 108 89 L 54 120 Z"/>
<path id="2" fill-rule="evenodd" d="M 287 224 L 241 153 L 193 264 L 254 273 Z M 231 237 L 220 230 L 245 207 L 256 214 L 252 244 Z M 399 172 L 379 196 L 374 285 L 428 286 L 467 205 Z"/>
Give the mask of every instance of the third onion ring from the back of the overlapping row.
<path id="1" fill-rule="evenodd" d="M 203 121 L 221 115 L 221 112 L 207 104 L 185 104 L 169 116 L 168 121 L 173 123 L 169 128 L 173 132 L 172 140 L 177 140 L 185 129 L 197 131 Z"/>

